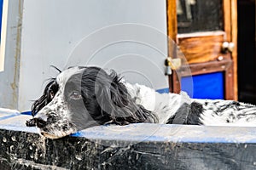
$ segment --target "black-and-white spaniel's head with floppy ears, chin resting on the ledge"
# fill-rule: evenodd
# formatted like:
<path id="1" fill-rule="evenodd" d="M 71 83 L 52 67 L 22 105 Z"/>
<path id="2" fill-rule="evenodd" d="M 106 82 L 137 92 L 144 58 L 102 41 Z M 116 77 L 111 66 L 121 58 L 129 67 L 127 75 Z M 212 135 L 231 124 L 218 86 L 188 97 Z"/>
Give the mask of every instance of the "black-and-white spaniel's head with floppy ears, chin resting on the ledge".
<path id="1" fill-rule="evenodd" d="M 153 113 L 131 99 L 114 71 L 72 67 L 50 81 L 32 105 L 32 120 L 48 138 L 57 139 L 86 127 L 113 122 L 156 122 Z"/>

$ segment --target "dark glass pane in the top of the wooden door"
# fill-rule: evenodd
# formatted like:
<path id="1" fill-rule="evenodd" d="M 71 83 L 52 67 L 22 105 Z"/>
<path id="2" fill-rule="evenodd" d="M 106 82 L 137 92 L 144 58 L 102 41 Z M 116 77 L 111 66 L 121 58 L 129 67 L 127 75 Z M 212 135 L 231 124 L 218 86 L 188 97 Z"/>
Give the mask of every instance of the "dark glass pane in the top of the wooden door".
<path id="1" fill-rule="evenodd" d="M 222 30 L 222 0 L 177 0 L 178 33 Z"/>

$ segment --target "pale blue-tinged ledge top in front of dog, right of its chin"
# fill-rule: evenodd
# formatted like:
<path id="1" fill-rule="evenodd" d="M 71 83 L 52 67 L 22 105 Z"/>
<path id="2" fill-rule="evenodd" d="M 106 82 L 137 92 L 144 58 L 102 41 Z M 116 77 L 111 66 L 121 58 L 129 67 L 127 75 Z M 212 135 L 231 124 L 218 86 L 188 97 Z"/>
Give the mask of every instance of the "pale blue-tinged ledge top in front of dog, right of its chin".
<path id="1" fill-rule="evenodd" d="M 122 131 L 120 129 L 122 129 Z M 233 130 L 236 133 L 233 133 Z M 90 127 L 79 131 L 78 133 L 73 133 L 71 136 L 96 140 L 124 140 L 130 142 L 168 141 L 174 143 L 201 144 L 255 144 L 255 133 L 255 127 L 206 127 L 195 125 L 136 123 L 124 127 Z"/>

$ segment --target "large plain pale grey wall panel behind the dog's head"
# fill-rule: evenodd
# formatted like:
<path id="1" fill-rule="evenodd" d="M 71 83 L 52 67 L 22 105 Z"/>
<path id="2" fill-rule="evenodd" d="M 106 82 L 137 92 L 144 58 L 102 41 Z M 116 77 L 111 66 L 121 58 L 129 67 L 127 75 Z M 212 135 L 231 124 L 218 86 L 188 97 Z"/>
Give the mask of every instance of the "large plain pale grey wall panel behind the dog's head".
<path id="1" fill-rule="evenodd" d="M 23 7 L 20 111 L 55 77 L 49 65 L 100 65 L 129 82 L 168 87 L 165 0 L 24 0 Z"/>

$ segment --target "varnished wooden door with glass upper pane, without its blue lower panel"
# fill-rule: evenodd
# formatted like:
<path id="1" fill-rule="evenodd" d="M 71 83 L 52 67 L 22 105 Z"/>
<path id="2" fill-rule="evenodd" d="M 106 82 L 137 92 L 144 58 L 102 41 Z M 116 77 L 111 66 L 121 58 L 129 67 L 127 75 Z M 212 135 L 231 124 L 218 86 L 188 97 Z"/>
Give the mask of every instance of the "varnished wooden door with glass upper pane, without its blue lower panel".
<path id="1" fill-rule="evenodd" d="M 237 99 L 236 0 L 167 0 L 167 22 L 168 36 L 177 43 L 189 64 L 183 61 L 173 71 L 171 91 L 179 93 L 183 82 L 180 79 L 189 74 L 196 77 L 221 73 L 224 99 Z M 232 52 L 223 50 L 224 42 L 230 46 L 233 42 Z M 177 48 L 169 43 L 170 57 L 179 58 Z M 181 77 L 177 77 L 177 72 Z"/>

